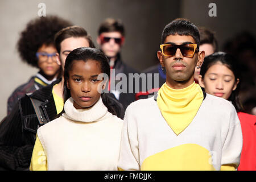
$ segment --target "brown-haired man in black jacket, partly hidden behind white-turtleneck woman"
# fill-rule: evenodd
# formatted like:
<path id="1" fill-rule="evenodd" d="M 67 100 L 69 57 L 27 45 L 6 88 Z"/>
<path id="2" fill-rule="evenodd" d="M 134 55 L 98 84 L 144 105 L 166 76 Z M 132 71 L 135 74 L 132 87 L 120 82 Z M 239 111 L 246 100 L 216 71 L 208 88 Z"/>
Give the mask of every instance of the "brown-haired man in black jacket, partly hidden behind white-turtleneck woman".
<path id="1" fill-rule="evenodd" d="M 62 114 L 64 96 L 67 92 L 64 88 L 64 65 L 67 56 L 76 48 L 94 48 L 92 37 L 80 26 L 61 29 L 55 34 L 54 42 L 57 49 L 57 64 L 62 68 L 61 78 L 20 98 L 11 113 L 1 121 L 0 169 L 29 169 L 36 142 L 36 131 Z M 102 95 L 102 102 L 104 105 L 108 105 L 108 110 L 111 113 L 123 118 L 124 111 L 121 103 L 114 100 L 109 94 Z M 36 105 L 38 107 L 35 107 Z M 56 130 L 58 129 L 56 128 Z M 38 160 L 35 161 L 40 162 L 43 153 L 39 151 L 36 157 Z"/>

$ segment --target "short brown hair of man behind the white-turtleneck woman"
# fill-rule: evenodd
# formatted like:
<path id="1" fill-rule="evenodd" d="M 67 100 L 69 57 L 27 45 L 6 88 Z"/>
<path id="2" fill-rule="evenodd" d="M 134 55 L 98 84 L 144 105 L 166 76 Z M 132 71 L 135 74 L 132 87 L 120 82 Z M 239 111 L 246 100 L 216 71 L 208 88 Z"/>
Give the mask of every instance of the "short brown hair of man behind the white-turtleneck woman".
<path id="1" fill-rule="evenodd" d="M 63 28 L 55 35 L 55 46 L 58 53 L 60 53 L 60 43 L 68 38 L 85 38 L 89 42 L 89 47 L 95 48 L 92 37 L 87 33 L 84 28 L 80 26 L 70 26 Z"/>

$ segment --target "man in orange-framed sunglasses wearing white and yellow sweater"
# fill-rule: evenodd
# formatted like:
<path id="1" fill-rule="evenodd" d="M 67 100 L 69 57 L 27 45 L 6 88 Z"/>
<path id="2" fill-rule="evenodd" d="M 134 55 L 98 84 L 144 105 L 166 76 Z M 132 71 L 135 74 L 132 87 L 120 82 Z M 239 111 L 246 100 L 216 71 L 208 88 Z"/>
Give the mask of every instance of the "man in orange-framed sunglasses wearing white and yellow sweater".
<path id="1" fill-rule="evenodd" d="M 242 131 L 234 106 L 194 81 L 204 51 L 197 27 L 175 19 L 157 52 L 166 82 L 126 109 L 118 167 L 124 170 L 236 170 Z"/>

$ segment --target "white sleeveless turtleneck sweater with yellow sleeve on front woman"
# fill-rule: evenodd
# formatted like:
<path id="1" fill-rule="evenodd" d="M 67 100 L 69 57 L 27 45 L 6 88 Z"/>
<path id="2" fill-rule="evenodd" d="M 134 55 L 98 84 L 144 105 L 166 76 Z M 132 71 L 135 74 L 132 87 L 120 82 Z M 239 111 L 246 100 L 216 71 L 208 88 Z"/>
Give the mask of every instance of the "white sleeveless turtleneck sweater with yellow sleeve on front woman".
<path id="1" fill-rule="evenodd" d="M 101 98 L 77 110 L 72 98 L 61 117 L 38 129 L 31 170 L 117 170 L 122 119 L 108 112 Z"/>

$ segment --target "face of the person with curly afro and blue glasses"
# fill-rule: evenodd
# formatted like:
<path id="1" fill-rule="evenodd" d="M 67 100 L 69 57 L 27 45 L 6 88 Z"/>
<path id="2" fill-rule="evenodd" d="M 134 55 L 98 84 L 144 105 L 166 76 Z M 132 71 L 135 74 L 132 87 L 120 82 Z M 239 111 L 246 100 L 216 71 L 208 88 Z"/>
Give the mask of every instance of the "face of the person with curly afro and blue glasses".
<path id="1" fill-rule="evenodd" d="M 43 46 L 41 46 L 38 49 L 38 52 L 52 54 L 52 53 L 57 53 L 57 50 L 52 45 L 46 46 L 45 44 L 43 44 Z M 52 60 L 52 57 L 48 57 L 47 61 L 42 61 L 42 59 L 39 58 L 38 67 L 40 68 L 40 73 L 47 80 L 53 80 L 53 78 L 57 77 L 60 71 L 60 65 L 57 64 L 56 61 Z"/>

